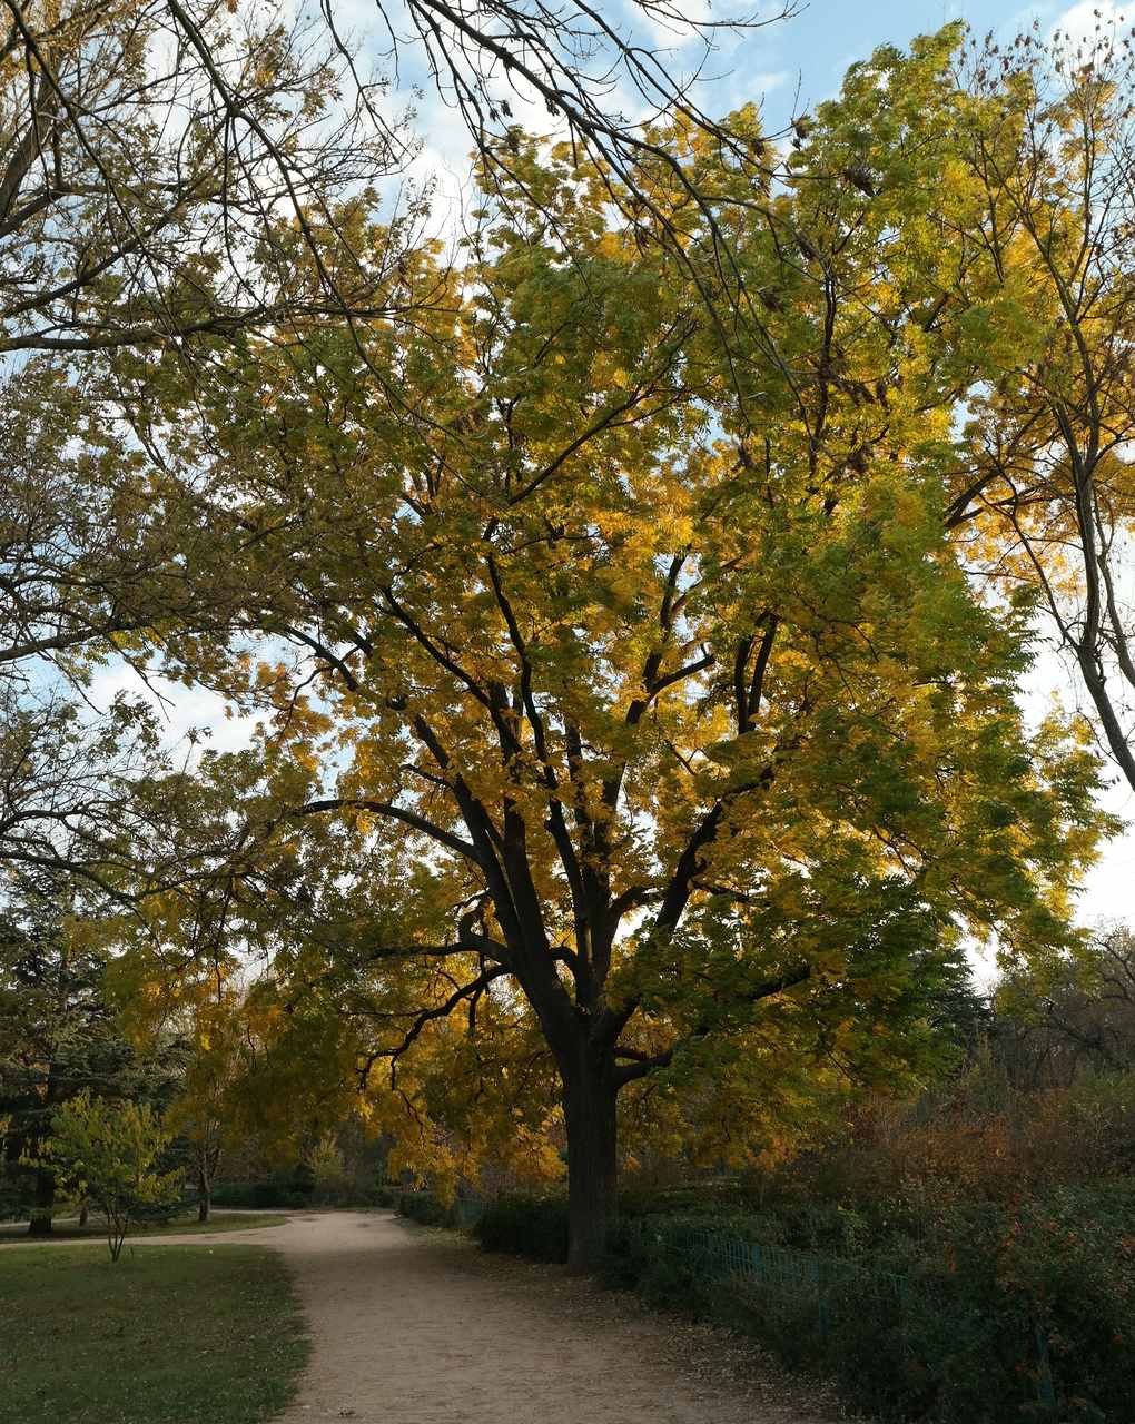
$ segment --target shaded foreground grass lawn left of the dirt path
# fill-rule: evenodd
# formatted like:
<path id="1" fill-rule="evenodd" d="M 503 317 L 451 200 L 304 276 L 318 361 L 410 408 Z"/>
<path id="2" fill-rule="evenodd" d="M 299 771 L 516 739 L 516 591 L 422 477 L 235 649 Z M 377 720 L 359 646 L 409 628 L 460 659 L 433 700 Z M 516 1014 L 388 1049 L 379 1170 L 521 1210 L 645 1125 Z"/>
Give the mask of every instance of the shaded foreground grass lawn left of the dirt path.
<path id="1" fill-rule="evenodd" d="M 13 1424 L 258 1424 L 308 1357 L 261 1246 L 90 1246 L 0 1256 L 0 1417 Z"/>

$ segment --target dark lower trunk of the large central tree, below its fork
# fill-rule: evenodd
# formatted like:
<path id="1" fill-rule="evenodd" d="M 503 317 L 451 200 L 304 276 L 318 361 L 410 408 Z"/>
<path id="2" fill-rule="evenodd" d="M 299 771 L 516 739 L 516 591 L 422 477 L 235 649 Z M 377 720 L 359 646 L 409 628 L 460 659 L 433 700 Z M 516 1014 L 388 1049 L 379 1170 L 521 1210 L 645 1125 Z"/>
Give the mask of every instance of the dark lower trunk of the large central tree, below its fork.
<path id="1" fill-rule="evenodd" d="M 568 1142 L 568 1266 L 594 1270 L 602 1256 L 607 1227 L 615 1216 L 614 1065 L 580 1045 L 564 1075 L 564 1119 Z"/>

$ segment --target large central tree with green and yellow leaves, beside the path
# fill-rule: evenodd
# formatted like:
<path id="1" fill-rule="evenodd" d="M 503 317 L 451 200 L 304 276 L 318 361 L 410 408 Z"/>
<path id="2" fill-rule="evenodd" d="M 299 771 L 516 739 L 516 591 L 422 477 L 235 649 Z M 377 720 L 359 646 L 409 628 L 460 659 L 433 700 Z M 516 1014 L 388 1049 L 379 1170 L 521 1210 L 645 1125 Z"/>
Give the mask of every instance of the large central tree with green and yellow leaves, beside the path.
<path id="1" fill-rule="evenodd" d="M 948 53 L 896 60 L 911 122 L 874 211 L 829 167 L 840 110 L 788 188 L 753 191 L 773 222 L 702 131 L 659 132 L 637 175 L 658 242 L 611 224 L 610 172 L 527 144 L 463 272 L 404 263 L 407 289 L 446 283 L 416 328 L 248 346 L 198 393 L 204 427 L 150 446 L 209 500 L 262 632 L 310 659 L 259 674 L 279 725 L 242 854 L 302 870 L 323 817 L 356 837 L 356 891 L 339 864 L 310 916 L 339 916 L 338 948 L 279 931 L 292 1015 L 336 956 L 362 973 L 363 1067 L 419 1122 L 440 1089 L 414 1101 L 403 1071 L 453 1045 L 450 1015 L 503 1099 L 507 1045 L 533 1049 L 577 1265 L 621 1094 L 713 1082 L 741 1138 L 800 1065 L 917 1064 L 960 937 L 1058 941 L 1099 830 L 1091 756 L 1025 732 L 1027 629 L 983 607 L 941 517 L 958 375 L 891 236 Z M 762 141 L 752 112 L 732 131 Z M 705 315 L 721 232 L 675 162 L 731 199 L 748 326 Z"/>

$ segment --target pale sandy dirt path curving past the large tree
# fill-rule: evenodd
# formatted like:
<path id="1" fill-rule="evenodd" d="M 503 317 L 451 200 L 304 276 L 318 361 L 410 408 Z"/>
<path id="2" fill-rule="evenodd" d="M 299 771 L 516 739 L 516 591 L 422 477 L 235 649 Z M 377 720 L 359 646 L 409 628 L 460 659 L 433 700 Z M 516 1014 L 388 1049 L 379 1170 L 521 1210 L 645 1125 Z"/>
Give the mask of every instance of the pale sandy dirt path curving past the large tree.
<path id="1" fill-rule="evenodd" d="M 486 1256 L 387 1213 L 310 1213 L 184 1240 L 273 1246 L 291 1262 L 315 1349 L 279 1424 L 839 1418 L 829 1401 L 753 1363 L 723 1331 L 655 1316 L 634 1297 L 555 1267 Z"/>

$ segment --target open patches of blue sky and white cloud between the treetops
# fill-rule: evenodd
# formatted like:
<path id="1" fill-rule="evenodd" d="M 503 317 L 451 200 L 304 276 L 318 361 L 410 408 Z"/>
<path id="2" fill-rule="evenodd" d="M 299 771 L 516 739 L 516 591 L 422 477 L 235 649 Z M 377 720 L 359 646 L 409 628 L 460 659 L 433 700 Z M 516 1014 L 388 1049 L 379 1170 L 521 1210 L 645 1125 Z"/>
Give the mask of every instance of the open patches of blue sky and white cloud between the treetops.
<path id="1" fill-rule="evenodd" d="M 397 0 L 387 0 L 396 4 Z M 602 13 L 629 14 L 628 0 L 600 0 Z M 741 13 L 752 13 L 758 0 L 749 6 L 733 0 L 672 0 L 675 9 L 685 14 L 702 14 L 723 19 Z M 367 47 L 377 63 L 377 40 L 375 26 L 375 0 L 336 0 L 336 23 L 353 33 Z M 1135 0 L 1131 19 L 1135 20 Z M 393 14 L 393 10 L 392 10 Z M 706 67 L 708 81 L 701 90 L 702 107 L 715 114 L 728 112 L 749 100 L 763 95 L 766 128 L 782 128 L 793 114 L 807 112 L 817 103 L 837 93 L 840 80 L 850 64 L 867 58 L 880 44 L 906 46 L 916 34 L 937 30 L 951 20 L 966 20 L 984 34 L 994 30 L 1013 37 L 1018 30 L 1037 20 L 1047 34 L 1054 28 L 1067 33 L 1089 34 L 1097 23 L 1118 21 L 1124 10 L 1109 0 L 1081 0 L 1074 6 L 1041 3 L 1021 6 L 1014 0 L 812 0 L 799 13 L 783 23 L 726 37 L 721 50 Z M 406 33 L 394 17 L 394 30 Z M 679 74 L 696 57 L 696 46 L 682 36 L 658 30 L 655 41 L 668 48 L 666 63 L 672 73 Z M 467 171 L 466 155 L 470 150 L 469 135 L 459 117 L 429 88 L 413 93 L 413 84 L 422 84 L 424 74 L 413 64 L 413 50 L 404 53 L 402 67 L 403 87 L 387 100 L 389 110 L 397 111 L 413 103 L 417 110 L 417 130 L 423 148 L 416 161 L 414 177 L 437 181 L 436 224 L 439 232 L 451 225 L 447 208 L 460 202 Z M 534 122 L 547 124 L 543 107 Z M 523 117 L 523 115 L 520 115 Z M 137 684 L 128 669 L 111 668 L 100 679 L 98 691 L 107 699 L 114 691 L 130 688 L 137 692 Z M 1038 718 L 1051 705 L 1052 696 L 1060 696 L 1064 705 L 1079 701 L 1075 686 L 1060 659 L 1044 655 L 1040 659 L 1031 685 L 1025 689 L 1027 712 Z M 103 701 L 100 696 L 98 701 Z M 226 719 L 222 702 L 205 691 L 185 688 L 171 689 L 171 701 L 165 709 L 171 739 L 177 740 L 189 728 L 212 729 L 211 743 L 216 748 L 241 745 L 246 738 L 246 725 L 239 719 Z M 1135 827 L 1135 795 L 1125 789 L 1116 776 L 1104 800 L 1107 807 Z M 1135 829 L 1118 836 L 1105 849 L 1099 863 L 1089 873 L 1079 900 L 1079 918 L 1084 923 L 1126 918 L 1131 916 L 1129 883 L 1135 879 Z"/>

